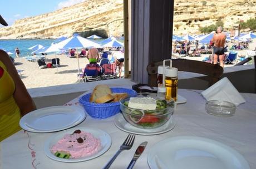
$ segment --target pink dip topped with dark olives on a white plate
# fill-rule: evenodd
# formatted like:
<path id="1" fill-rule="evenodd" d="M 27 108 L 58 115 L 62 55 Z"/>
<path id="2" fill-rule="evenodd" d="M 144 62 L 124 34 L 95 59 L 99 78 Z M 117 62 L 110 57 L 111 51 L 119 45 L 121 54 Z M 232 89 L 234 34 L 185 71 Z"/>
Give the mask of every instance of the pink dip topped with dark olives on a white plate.
<path id="1" fill-rule="evenodd" d="M 76 130 L 73 134 L 66 134 L 62 137 L 57 144 L 52 146 L 51 151 L 53 153 L 65 151 L 70 153 L 70 158 L 81 158 L 98 152 L 100 147 L 100 140 L 93 137 L 92 134 Z"/>

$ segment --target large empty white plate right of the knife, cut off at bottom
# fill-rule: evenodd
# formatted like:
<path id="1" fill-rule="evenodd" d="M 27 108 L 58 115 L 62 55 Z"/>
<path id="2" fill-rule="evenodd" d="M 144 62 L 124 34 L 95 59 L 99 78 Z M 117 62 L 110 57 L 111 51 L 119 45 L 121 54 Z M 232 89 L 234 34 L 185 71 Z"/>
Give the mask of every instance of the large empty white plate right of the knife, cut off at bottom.
<path id="1" fill-rule="evenodd" d="M 203 137 L 178 136 L 157 142 L 147 155 L 151 169 L 249 169 L 233 148 Z"/>

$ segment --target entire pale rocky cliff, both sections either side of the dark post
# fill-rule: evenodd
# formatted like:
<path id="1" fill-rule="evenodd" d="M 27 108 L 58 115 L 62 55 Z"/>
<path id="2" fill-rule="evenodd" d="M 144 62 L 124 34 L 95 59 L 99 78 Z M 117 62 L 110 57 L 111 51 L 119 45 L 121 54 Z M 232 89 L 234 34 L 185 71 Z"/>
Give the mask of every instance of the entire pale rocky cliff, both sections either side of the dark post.
<path id="1" fill-rule="evenodd" d="M 1 39 L 56 38 L 74 32 L 99 31 L 105 35 L 123 33 L 122 0 L 88 0 L 55 12 L 17 20 L 0 29 Z M 241 19 L 256 17 L 256 0 L 174 1 L 174 34 L 199 33 L 200 27 L 224 22 L 224 29 L 237 26 Z"/>

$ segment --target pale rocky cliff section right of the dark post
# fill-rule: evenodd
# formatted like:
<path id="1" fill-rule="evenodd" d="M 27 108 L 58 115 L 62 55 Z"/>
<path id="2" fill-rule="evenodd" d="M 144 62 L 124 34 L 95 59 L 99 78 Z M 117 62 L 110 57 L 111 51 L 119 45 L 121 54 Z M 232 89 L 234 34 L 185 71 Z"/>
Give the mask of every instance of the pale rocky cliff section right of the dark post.
<path id="1" fill-rule="evenodd" d="M 256 0 L 174 1 L 174 34 L 200 33 L 199 28 L 224 22 L 224 30 L 238 26 L 240 20 L 256 17 Z"/>

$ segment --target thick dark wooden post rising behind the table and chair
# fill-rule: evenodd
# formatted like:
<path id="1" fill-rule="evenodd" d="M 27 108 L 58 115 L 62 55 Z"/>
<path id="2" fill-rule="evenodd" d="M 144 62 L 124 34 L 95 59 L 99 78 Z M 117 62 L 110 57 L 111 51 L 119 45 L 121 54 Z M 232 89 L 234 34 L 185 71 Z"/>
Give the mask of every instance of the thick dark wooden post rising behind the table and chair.
<path id="1" fill-rule="evenodd" d="M 131 0 L 131 79 L 148 84 L 146 66 L 171 58 L 174 1 Z"/>

